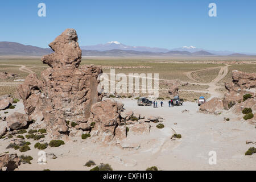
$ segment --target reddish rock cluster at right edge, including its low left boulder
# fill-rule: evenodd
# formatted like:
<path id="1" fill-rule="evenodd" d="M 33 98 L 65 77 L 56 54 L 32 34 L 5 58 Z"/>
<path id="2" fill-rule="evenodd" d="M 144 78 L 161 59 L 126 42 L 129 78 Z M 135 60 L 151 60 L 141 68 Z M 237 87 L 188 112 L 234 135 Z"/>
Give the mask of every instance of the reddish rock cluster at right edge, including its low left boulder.
<path id="1" fill-rule="evenodd" d="M 210 101 L 201 105 L 200 110 L 208 113 L 220 113 L 221 109 L 229 110 L 230 112 L 242 115 L 242 110 L 251 108 L 254 118 L 250 121 L 255 121 L 256 110 L 256 73 L 245 73 L 240 71 L 232 71 L 232 82 L 225 83 L 225 88 L 228 93 L 224 99 L 213 98 Z M 250 97 L 246 97 L 246 94 Z"/>

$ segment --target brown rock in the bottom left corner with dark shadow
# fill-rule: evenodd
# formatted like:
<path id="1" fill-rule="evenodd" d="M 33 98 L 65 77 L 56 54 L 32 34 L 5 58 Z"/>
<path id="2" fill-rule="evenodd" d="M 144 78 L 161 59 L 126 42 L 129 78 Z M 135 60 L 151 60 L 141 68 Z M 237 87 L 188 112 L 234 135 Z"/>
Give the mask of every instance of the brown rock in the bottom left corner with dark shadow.
<path id="1" fill-rule="evenodd" d="M 0 171 L 6 167 L 6 171 L 14 171 L 20 166 L 20 159 L 16 154 L 1 154 L 0 155 Z"/>

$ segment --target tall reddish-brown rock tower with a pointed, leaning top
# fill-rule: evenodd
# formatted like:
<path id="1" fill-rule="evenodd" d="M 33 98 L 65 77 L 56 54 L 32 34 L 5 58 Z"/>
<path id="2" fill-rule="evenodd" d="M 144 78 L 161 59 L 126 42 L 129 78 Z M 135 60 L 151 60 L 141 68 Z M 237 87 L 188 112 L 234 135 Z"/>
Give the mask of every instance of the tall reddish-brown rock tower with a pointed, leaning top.
<path id="1" fill-rule="evenodd" d="M 36 121 L 44 120 L 53 136 L 68 133 L 66 121 L 86 123 L 90 108 L 101 101 L 97 92 L 97 77 L 102 70 L 81 63 L 81 49 L 73 29 L 65 30 L 49 47 L 54 53 L 43 56 L 49 67 L 41 73 L 27 76 L 19 86 L 25 111 Z M 53 137 L 52 136 L 52 137 Z"/>

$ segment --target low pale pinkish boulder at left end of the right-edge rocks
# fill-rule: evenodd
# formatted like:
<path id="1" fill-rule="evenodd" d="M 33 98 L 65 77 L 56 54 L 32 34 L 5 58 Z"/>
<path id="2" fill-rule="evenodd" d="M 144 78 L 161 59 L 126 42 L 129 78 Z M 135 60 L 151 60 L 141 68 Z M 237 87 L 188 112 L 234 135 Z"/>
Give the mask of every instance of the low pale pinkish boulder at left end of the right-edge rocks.
<path id="1" fill-rule="evenodd" d="M 223 109 L 223 101 L 217 97 L 212 98 L 211 100 L 205 102 L 203 105 L 200 106 L 201 111 L 214 114 L 222 113 Z"/>

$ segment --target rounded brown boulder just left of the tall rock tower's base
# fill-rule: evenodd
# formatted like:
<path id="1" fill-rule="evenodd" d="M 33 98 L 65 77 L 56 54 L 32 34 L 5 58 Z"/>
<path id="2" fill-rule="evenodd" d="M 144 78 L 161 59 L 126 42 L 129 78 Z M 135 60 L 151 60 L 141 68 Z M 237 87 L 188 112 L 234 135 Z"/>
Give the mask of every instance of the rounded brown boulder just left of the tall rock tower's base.
<path id="1" fill-rule="evenodd" d="M 31 117 L 27 114 L 13 113 L 6 118 L 7 126 L 11 130 L 24 129 L 32 121 Z"/>

